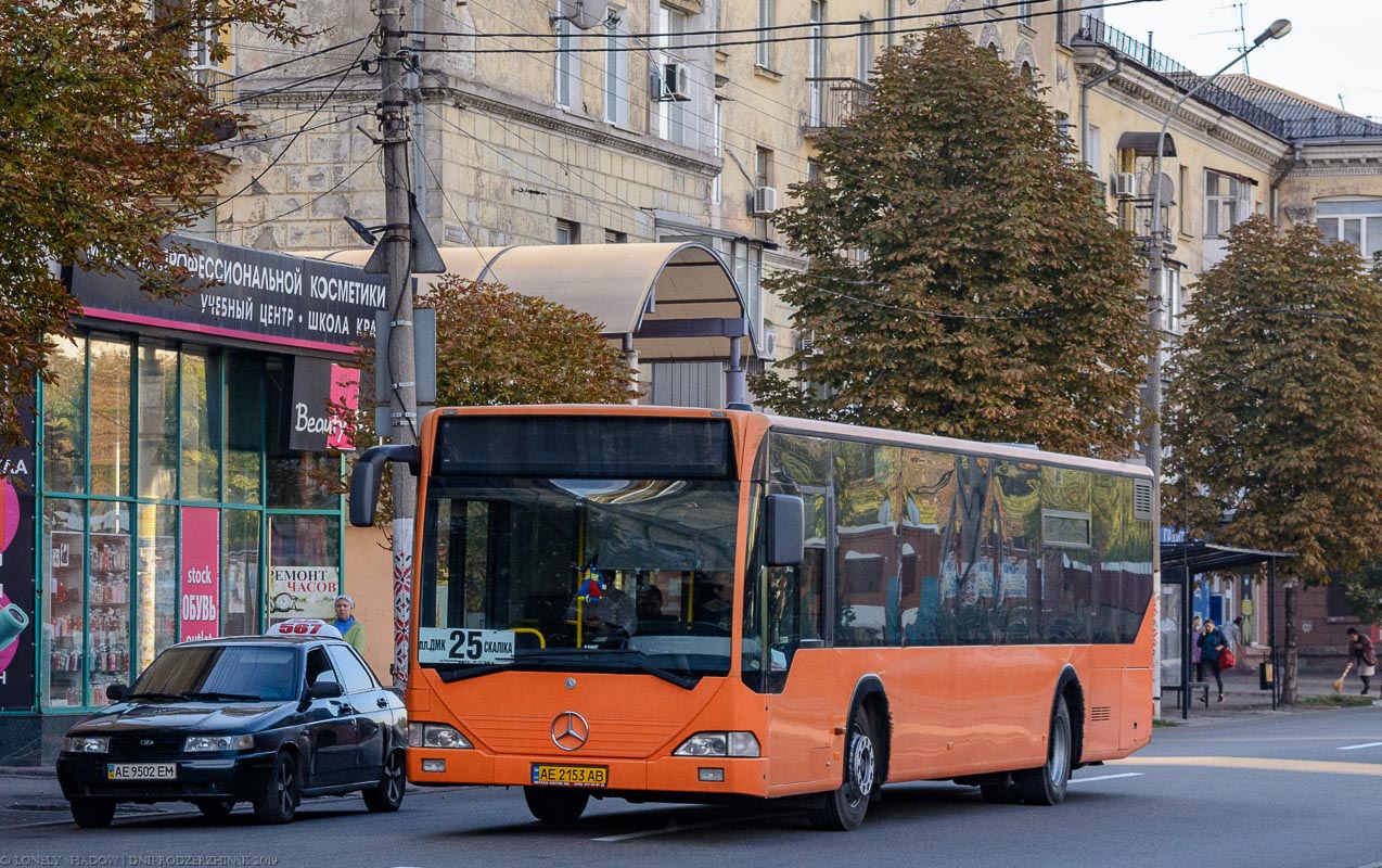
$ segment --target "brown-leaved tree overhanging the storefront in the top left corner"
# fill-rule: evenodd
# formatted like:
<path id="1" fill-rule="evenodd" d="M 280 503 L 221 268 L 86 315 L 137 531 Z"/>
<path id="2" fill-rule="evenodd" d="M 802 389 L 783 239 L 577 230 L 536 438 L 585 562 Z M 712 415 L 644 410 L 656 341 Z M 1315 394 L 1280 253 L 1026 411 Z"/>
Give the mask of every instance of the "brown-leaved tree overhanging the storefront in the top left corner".
<path id="1" fill-rule="evenodd" d="M 149 7 L 153 14 L 149 14 Z M 53 340 L 75 300 L 58 267 L 134 268 L 176 294 L 159 242 L 206 207 L 225 160 L 206 149 L 243 117 L 191 72 L 195 44 L 217 64 L 235 25 L 296 43 L 292 0 L 0 0 L 0 444 L 51 376 Z"/>

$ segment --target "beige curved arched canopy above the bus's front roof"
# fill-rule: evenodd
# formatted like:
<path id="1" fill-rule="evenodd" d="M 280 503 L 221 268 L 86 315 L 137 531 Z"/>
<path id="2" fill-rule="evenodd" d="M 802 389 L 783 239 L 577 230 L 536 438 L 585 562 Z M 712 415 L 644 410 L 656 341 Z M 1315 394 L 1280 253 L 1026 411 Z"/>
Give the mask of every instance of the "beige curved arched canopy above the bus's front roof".
<path id="1" fill-rule="evenodd" d="M 697 242 L 439 247 L 446 274 L 503 283 L 590 314 L 611 340 L 633 337 L 640 361 L 755 355 L 745 305 L 724 261 Z M 363 265 L 368 249 L 300 253 Z M 424 293 L 442 275 L 417 275 Z"/>

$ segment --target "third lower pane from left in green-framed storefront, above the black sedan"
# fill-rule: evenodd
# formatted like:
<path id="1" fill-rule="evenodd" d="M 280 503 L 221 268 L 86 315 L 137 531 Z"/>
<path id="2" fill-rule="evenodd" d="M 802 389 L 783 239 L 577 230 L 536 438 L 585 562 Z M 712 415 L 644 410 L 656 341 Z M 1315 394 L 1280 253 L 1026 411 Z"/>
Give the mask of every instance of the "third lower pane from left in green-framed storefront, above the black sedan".
<path id="1" fill-rule="evenodd" d="M 177 641 L 177 507 L 141 503 L 138 520 L 135 665 L 142 672 Z"/>

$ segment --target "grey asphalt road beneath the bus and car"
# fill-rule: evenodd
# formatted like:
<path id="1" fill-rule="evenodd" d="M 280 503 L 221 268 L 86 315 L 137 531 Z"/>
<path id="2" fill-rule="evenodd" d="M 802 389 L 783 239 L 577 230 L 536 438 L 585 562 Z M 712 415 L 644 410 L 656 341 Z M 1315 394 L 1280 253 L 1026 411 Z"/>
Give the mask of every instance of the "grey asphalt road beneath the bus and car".
<path id="1" fill-rule="evenodd" d="M 547 828 L 517 789 L 410 789 L 397 814 L 368 814 L 354 796 L 308 800 L 287 827 L 257 827 L 243 806 L 223 822 L 142 813 L 109 829 L 77 829 L 53 811 L 37 822 L 0 813 L 0 868 L 1382 868 L 1379 793 L 1382 708 L 1360 708 L 1161 728 L 1135 757 L 1079 770 L 1057 807 L 987 804 L 952 784 L 890 786 L 853 833 L 817 832 L 781 807 L 619 800 Z"/>

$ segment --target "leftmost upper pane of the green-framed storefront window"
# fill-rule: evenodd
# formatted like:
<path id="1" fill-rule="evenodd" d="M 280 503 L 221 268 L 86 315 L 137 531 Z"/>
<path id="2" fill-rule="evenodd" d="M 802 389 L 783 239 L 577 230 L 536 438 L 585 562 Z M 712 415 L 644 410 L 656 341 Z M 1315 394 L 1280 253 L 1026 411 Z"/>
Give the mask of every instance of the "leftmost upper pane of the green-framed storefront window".
<path id="1" fill-rule="evenodd" d="M 59 339 L 48 355 L 54 381 L 43 388 L 43 487 L 86 493 L 86 339 Z"/>

